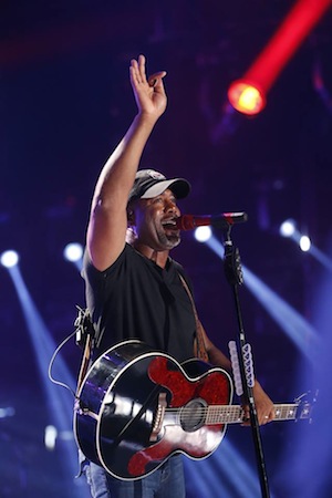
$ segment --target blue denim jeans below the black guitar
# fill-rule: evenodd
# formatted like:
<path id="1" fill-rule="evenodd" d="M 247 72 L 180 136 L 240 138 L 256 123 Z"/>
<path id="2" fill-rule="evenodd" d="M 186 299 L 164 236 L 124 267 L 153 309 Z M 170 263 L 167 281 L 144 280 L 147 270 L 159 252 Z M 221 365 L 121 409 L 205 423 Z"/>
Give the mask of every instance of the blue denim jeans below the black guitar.
<path id="1" fill-rule="evenodd" d="M 184 467 L 180 455 L 170 457 L 143 479 L 120 480 L 90 463 L 84 470 L 92 498 L 185 498 Z"/>

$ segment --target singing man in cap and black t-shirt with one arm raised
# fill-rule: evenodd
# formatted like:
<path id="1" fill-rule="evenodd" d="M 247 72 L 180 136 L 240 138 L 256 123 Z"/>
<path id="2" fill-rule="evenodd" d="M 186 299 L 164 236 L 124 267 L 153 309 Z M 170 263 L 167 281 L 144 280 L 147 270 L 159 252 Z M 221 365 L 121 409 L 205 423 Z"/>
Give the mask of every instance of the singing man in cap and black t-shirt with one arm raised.
<path id="1" fill-rule="evenodd" d="M 197 352 L 199 338 L 187 277 L 169 251 L 180 242 L 177 199 L 190 187 L 183 178 L 167 180 L 154 170 L 137 173 L 144 146 L 166 108 L 166 72 L 147 79 L 143 55 L 132 60 L 129 72 L 138 112 L 101 172 L 86 236 L 83 274 L 96 328 L 94 357 L 135 338 L 183 362 Z M 200 338 L 209 362 L 229 371 L 228 359 L 204 330 Z M 271 421 L 272 402 L 258 382 L 253 395 L 259 423 Z M 92 496 L 183 498 L 180 458 L 170 457 L 152 475 L 135 481 L 116 479 L 91 464 L 86 474 Z"/>

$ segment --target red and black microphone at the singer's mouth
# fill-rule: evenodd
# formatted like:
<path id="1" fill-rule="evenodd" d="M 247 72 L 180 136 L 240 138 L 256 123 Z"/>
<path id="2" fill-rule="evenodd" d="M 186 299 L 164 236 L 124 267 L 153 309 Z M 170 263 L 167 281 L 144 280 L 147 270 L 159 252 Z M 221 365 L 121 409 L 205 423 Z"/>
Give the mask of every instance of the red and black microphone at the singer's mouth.
<path id="1" fill-rule="evenodd" d="M 247 221 L 247 212 L 221 212 L 220 215 L 183 215 L 176 220 L 179 230 L 194 230 L 197 227 L 228 228 L 230 225 Z"/>

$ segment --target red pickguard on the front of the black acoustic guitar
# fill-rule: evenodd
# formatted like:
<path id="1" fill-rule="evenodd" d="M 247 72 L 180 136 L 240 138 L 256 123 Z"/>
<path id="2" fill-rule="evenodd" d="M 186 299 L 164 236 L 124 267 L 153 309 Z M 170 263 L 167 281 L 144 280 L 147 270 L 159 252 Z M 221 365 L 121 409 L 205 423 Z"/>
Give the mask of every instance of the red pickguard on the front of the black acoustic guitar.
<path id="1" fill-rule="evenodd" d="M 208 405 L 229 403 L 229 380 L 220 371 L 211 370 L 201 377 L 190 380 L 175 363 L 158 356 L 151 362 L 148 376 L 154 383 L 169 390 L 172 400 L 167 408 L 183 407 L 195 398 L 201 398 Z M 180 425 L 165 425 L 160 440 L 131 457 L 128 473 L 136 477 L 143 476 L 147 473 L 149 463 L 164 461 L 175 452 L 203 458 L 219 445 L 224 435 L 222 427 L 222 424 L 204 425 L 196 432 L 187 433 Z"/>

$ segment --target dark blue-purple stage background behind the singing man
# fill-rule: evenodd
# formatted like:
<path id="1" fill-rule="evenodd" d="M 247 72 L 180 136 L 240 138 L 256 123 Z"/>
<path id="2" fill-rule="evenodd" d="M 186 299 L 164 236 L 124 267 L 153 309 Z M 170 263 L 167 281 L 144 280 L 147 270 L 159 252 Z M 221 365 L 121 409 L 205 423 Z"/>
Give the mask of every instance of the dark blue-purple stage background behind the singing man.
<path id="1" fill-rule="evenodd" d="M 273 424 L 261 430 L 272 496 L 328 498 L 332 455 L 329 445 L 323 452 L 321 445 L 330 438 L 322 422 L 331 413 L 331 267 L 280 237 L 279 226 L 286 218 L 295 219 L 299 230 L 329 258 L 331 10 L 282 71 L 260 115 L 227 113 L 226 98 L 230 82 L 246 72 L 292 3 L 1 1 L 0 252 L 20 253 L 25 286 L 51 338 L 60 343 L 74 330 L 75 304 L 84 304 L 83 281 L 62 252 L 68 242 L 84 243 L 95 179 L 136 112 L 129 60 L 144 53 L 149 73 L 165 69 L 168 107 L 142 167 L 190 180 L 193 194 L 181 203 L 183 212 L 247 211 L 248 222 L 232 230 L 243 264 L 303 315 L 324 344 L 319 347 L 322 356 L 312 349 L 311 361 L 246 284 L 241 288 L 245 330 L 266 391 L 276 402 L 321 391 L 312 425 Z M 318 71 L 324 94 L 314 84 Z M 218 231 L 215 235 L 220 238 Z M 237 322 L 221 260 L 191 232 L 184 234 L 174 257 L 193 279 L 208 333 L 227 351 Z M 53 450 L 44 446 L 44 428 L 52 417 L 45 385 L 51 396 L 62 388 L 38 367 L 29 324 L 2 267 L 0 323 L 0 408 L 13 408 L 0 418 L 0 496 L 85 497 L 84 485 L 77 485 L 63 465 L 68 447 L 74 448 L 70 435 Z M 74 340 L 62 356 L 75 376 L 80 351 Z M 71 395 L 60 394 L 70 406 Z M 226 440 L 257 480 L 250 429 L 229 427 Z M 222 444 L 210 459 L 211 468 L 219 454 Z M 321 473 L 315 470 L 318 463 Z M 199 474 L 200 468 L 196 463 L 187 471 Z M 226 476 L 237 473 L 237 461 L 226 467 Z M 220 480 L 224 489 L 227 477 L 222 484 L 216 470 L 210 479 L 214 486 Z M 246 483 L 240 474 L 238 480 Z M 216 494 L 210 483 L 203 491 L 190 486 L 190 476 L 188 483 L 190 497 L 255 496 Z M 80 489 L 77 495 L 74 489 Z"/>

